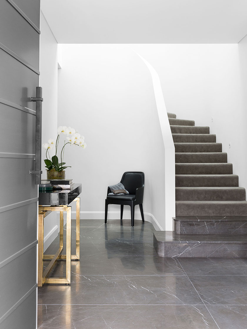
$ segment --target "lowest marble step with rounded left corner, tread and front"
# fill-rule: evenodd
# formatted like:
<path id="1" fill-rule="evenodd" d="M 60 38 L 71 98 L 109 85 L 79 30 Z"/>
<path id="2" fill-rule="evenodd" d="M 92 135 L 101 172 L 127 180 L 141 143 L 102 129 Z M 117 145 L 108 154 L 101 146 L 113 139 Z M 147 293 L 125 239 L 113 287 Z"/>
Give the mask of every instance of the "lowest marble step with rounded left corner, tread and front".
<path id="1" fill-rule="evenodd" d="M 247 257 L 245 235 L 158 231 L 153 232 L 153 245 L 159 257 Z"/>

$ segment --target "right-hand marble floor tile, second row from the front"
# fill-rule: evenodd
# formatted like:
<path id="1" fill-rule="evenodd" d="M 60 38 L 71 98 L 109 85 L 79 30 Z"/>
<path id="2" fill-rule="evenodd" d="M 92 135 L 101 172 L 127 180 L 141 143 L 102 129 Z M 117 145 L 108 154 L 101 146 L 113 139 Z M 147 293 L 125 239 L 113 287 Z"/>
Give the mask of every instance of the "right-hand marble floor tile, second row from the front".
<path id="1" fill-rule="evenodd" d="M 206 305 L 247 305 L 245 275 L 189 275 L 189 278 Z"/>

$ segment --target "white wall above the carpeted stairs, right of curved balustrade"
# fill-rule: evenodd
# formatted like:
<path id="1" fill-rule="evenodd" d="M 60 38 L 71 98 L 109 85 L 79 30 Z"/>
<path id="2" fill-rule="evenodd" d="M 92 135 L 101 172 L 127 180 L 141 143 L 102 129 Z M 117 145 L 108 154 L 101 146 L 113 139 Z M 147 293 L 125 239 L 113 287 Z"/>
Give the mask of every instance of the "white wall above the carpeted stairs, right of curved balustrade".
<path id="1" fill-rule="evenodd" d="M 167 112 L 177 114 L 177 118 L 195 120 L 195 125 L 209 126 L 216 141 L 222 142 L 223 152 L 228 153 L 233 173 L 239 175 L 239 186 L 245 188 L 246 43 L 244 38 L 239 45 L 130 45 L 159 74 Z"/>

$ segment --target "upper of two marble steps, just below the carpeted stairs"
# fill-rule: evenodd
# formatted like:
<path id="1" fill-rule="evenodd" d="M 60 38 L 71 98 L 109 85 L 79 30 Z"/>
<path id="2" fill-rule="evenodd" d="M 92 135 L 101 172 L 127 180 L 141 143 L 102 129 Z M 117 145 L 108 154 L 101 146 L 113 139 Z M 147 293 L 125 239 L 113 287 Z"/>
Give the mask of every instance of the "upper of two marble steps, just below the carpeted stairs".
<path id="1" fill-rule="evenodd" d="M 176 216 L 173 220 L 177 234 L 247 235 L 247 216 Z"/>

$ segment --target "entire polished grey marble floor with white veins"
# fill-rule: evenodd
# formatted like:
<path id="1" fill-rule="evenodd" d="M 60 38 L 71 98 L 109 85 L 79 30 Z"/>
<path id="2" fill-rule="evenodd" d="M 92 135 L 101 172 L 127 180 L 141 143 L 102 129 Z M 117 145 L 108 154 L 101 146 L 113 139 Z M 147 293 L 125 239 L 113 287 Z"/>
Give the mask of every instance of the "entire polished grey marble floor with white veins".
<path id="1" fill-rule="evenodd" d="M 38 328 L 247 328 L 247 259 L 161 258 L 154 231 L 138 220 L 81 220 L 71 284 L 38 289 Z M 59 261 L 50 276 L 64 273 Z"/>

